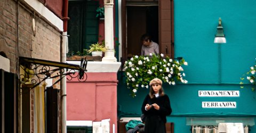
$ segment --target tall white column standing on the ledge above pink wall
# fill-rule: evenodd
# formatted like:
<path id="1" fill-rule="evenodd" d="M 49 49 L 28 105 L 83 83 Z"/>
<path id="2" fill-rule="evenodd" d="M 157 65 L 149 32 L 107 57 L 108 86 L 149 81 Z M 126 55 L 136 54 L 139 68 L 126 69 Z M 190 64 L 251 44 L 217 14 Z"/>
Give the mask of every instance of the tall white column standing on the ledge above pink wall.
<path id="1" fill-rule="evenodd" d="M 113 0 L 104 0 L 105 8 L 105 56 L 102 61 L 116 62 L 114 51 L 114 29 L 113 29 Z"/>

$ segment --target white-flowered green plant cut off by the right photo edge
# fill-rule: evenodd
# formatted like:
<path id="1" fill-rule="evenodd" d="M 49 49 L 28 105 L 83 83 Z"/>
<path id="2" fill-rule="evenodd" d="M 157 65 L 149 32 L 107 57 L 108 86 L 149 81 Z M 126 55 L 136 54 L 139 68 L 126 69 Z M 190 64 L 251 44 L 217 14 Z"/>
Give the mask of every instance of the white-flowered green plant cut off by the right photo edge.
<path id="1" fill-rule="evenodd" d="M 256 60 L 256 59 L 255 59 Z M 255 61 L 256 63 L 256 61 Z M 250 67 L 250 70 L 248 72 L 246 72 L 246 79 L 250 81 L 250 83 L 253 85 L 252 90 L 255 89 L 255 70 L 256 70 L 256 65 L 253 65 Z M 243 74 L 243 76 L 240 78 L 241 80 L 244 80 L 245 74 Z M 243 86 L 244 82 L 240 82 L 241 88 L 244 88 Z"/>

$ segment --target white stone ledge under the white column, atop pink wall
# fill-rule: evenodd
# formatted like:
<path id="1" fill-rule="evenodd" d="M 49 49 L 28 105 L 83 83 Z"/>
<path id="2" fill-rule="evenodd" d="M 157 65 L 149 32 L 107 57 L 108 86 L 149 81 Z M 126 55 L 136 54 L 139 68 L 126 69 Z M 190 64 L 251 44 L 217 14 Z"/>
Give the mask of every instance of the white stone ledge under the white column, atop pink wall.
<path id="1" fill-rule="evenodd" d="M 80 65 L 80 61 L 67 61 L 69 64 Z M 121 62 L 102 62 L 102 61 L 88 61 L 87 72 L 117 72 L 120 69 Z"/>

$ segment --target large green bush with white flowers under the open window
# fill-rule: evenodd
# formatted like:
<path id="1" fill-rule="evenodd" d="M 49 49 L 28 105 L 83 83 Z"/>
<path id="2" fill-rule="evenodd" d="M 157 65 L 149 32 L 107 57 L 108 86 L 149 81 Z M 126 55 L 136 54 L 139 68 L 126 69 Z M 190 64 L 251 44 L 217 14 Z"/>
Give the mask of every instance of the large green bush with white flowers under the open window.
<path id="1" fill-rule="evenodd" d="M 185 73 L 181 73 L 183 68 L 181 65 L 187 65 L 184 59 L 179 61 L 172 60 L 169 57 L 163 58 L 163 54 L 152 56 L 133 56 L 124 64 L 126 73 L 127 87 L 131 90 L 131 96 L 135 97 L 139 87 L 149 88 L 149 81 L 159 78 L 163 82 L 175 85 L 176 81 L 187 84 L 187 80 L 183 79 Z"/>

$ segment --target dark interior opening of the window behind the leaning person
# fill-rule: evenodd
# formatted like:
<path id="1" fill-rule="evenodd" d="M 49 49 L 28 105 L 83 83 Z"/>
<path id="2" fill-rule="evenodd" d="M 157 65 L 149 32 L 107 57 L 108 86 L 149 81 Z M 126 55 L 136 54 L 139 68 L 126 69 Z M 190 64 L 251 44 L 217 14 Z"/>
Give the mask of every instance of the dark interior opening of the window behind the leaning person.
<path id="1" fill-rule="evenodd" d="M 158 6 L 126 7 L 126 42 L 127 58 L 141 54 L 140 37 L 148 33 L 158 44 Z"/>

